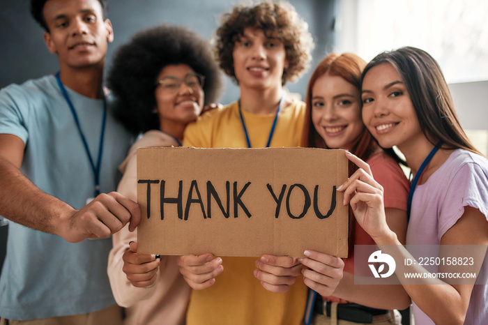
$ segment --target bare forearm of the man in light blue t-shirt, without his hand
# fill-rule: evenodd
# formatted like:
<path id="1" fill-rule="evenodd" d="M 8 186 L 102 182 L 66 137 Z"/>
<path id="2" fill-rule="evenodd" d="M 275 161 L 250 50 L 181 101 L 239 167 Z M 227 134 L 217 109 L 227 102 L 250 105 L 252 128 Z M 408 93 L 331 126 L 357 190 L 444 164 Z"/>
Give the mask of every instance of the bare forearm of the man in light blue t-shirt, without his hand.
<path id="1" fill-rule="evenodd" d="M 0 157 L 0 215 L 33 229 L 62 236 L 75 209 L 35 186 L 10 161 Z"/>

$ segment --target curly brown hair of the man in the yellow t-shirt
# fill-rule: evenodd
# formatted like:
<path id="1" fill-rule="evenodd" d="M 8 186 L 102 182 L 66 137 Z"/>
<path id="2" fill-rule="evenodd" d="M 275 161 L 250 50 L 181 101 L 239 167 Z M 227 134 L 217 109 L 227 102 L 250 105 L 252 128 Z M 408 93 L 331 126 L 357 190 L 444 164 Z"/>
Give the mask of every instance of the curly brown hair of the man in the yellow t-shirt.
<path id="1" fill-rule="evenodd" d="M 307 70 L 312 59 L 314 42 L 308 24 L 298 16 L 290 3 L 261 2 L 255 6 L 234 6 L 222 15 L 216 33 L 215 56 L 220 68 L 238 83 L 234 73 L 234 44 L 243 36 L 246 27 L 262 29 L 266 36 L 279 39 L 287 54 L 288 68 L 284 69 L 282 85 L 296 80 Z"/>

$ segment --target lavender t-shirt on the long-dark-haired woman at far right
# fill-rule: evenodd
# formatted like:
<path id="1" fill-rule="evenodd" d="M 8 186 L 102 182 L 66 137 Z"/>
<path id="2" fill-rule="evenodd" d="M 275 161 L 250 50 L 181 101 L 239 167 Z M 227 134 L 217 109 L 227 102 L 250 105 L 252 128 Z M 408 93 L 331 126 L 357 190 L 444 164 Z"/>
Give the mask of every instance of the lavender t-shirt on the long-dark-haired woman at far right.
<path id="1" fill-rule="evenodd" d="M 407 245 L 439 245 L 442 236 L 472 206 L 488 221 L 488 160 L 463 149 L 453 151 L 439 169 L 415 188 Z M 485 258 L 485 266 L 487 265 Z M 480 281 L 480 279 L 478 279 Z M 488 324 L 488 285 L 475 285 L 464 324 Z M 415 324 L 434 324 L 413 303 Z"/>

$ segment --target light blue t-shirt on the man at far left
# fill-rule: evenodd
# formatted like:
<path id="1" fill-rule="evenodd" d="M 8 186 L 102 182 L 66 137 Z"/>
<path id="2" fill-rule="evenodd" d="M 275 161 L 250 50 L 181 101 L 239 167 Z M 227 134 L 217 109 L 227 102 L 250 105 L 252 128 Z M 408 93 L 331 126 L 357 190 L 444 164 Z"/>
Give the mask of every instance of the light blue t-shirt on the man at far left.
<path id="1" fill-rule="evenodd" d="M 97 160 L 103 101 L 67 89 L 93 160 Z M 93 197 L 94 177 L 73 114 L 53 75 L 0 91 L 0 133 L 25 144 L 21 170 L 38 188 L 75 209 Z M 117 166 L 132 137 L 107 113 L 100 192 L 116 189 Z M 107 278 L 111 239 L 68 243 L 15 222 L 9 223 L 0 277 L 0 316 L 39 319 L 76 315 L 115 303 Z"/>

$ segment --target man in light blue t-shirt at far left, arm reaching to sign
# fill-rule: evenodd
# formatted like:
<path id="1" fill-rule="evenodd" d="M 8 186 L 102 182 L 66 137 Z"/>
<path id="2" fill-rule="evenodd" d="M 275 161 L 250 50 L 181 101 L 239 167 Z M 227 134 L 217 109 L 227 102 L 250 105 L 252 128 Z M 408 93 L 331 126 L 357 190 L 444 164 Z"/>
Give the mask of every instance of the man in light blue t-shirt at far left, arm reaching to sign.
<path id="1" fill-rule="evenodd" d="M 128 222 L 135 229 L 140 211 L 110 192 L 132 137 L 107 109 L 102 87 L 114 38 L 105 6 L 32 0 L 59 73 L 0 91 L 0 215 L 13 221 L 0 278 L 2 325 L 121 322 L 106 238 Z"/>

